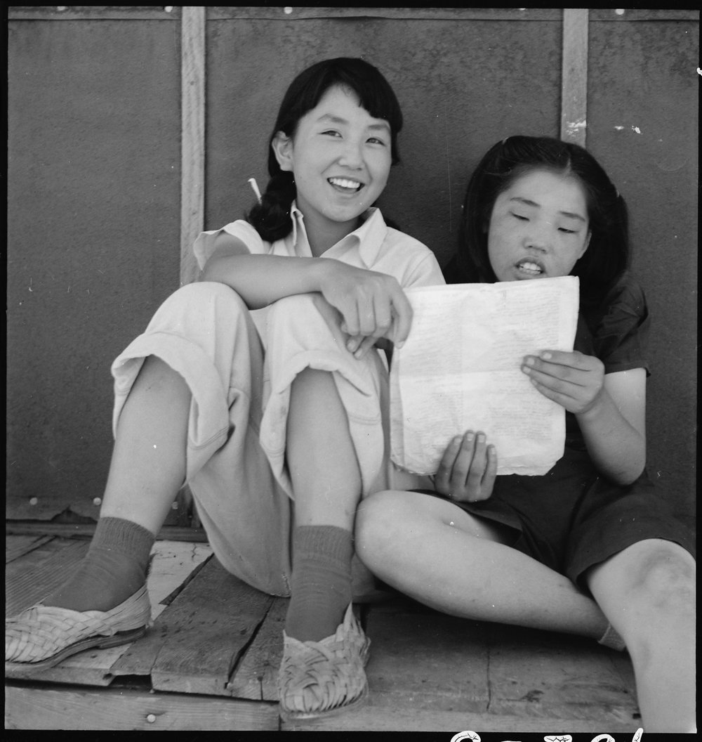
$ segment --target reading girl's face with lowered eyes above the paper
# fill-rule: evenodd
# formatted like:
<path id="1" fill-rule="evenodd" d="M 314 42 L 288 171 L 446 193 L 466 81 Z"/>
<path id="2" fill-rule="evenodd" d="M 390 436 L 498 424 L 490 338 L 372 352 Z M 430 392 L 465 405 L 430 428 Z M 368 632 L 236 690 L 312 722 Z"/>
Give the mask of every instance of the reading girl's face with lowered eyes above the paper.
<path id="1" fill-rule="evenodd" d="M 569 275 L 590 240 L 580 181 L 549 170 L 514 180 L 495 200 L 488 256 L 497 280 Z"/>

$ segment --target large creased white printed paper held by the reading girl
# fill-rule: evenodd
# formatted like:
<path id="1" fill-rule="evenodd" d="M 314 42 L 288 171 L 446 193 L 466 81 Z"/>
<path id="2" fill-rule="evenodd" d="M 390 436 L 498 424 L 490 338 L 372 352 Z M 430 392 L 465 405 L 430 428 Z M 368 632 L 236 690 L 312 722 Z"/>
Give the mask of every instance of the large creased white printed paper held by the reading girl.
<path id="1" fill-rule="evenodd" d="M 498 474 L 545 474 L 563 456 L 565 410 L 520 370 L 523 357 L 572 351 L 574 276 L 407 289 L 410 334 L 390 372 L 391 457 L 436 473 L 451 438 L 483 430 Z"/>

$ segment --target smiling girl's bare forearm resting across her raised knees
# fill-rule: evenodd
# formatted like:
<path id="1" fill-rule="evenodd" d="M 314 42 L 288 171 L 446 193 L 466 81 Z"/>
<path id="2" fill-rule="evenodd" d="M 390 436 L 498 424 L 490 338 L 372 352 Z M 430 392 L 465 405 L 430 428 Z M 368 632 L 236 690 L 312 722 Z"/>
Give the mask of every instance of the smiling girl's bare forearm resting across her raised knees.
<path id="1" fill-rule="evenodd" d="M 321 257 L 227 255 L 209 260 L 202 280 L 225 283 L 249 309 L 260 309 L 285 296 L 319 291 L 331 263 Z"/>

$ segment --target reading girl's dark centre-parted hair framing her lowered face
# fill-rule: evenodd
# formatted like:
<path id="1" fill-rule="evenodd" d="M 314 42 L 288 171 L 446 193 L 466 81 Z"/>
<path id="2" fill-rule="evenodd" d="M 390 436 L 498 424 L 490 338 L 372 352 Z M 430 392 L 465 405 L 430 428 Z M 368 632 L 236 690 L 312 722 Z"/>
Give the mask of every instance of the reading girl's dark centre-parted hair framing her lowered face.
<path id="1" fill-rule="evenodd" d="M 508 137 L 493 145 L 475 168 L 463 203 L 452 283 L 494 283 L 487 228 L 495 200 L 518 177 L 548 170 L 576 178 L 583 186 L 592 232 L 588 249 L 575 263 L 584 300 L 597 301 L 629 266 L 626 203 L 586 149 L 551 137 Z"/>

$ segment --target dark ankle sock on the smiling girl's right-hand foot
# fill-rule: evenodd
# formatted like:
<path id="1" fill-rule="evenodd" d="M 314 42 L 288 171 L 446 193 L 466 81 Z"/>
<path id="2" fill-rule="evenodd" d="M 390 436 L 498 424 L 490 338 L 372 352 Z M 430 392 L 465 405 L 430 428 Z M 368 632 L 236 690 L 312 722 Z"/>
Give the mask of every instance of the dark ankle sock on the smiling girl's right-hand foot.
<path id="1" fill-rule="evenodd" d="M 285 633 L 301 642 L 334 634 L 351 603 L 351 531 L 302 525 L 293 531 L 291 599 Z"/>

